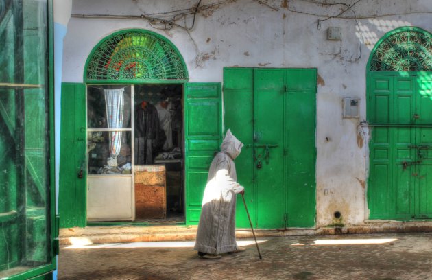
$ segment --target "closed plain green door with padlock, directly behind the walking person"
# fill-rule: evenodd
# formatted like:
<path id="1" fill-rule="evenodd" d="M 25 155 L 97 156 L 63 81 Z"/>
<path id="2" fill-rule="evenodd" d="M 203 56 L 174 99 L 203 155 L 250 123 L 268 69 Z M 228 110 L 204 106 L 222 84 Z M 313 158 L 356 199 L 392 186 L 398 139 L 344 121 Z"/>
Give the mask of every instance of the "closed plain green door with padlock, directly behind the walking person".
<path id="1" fill-rule="evenodd" d="M 244 143 L 236 159 L 254 226 L 315 224 L 316 69 L 224 69 L 224 127 Z M 243 201 L 237 226 L 248 227 Z"/>

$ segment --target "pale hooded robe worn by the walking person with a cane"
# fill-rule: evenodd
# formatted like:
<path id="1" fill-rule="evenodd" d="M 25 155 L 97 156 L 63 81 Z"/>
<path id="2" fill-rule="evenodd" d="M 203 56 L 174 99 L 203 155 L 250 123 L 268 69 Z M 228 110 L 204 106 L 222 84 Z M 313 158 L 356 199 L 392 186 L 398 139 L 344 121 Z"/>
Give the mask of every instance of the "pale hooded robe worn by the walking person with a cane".
<path id="1" fill-rule="evenodd" d="M 195 250 L 207 254 L 221 254 L 238 249 L 235 241 L 236 194 L 243 191 L 237 183 L 234 159 L 243 144 L 226 132 L 221 152 L 213 159 L 208 172 L 198 224 Z"/>

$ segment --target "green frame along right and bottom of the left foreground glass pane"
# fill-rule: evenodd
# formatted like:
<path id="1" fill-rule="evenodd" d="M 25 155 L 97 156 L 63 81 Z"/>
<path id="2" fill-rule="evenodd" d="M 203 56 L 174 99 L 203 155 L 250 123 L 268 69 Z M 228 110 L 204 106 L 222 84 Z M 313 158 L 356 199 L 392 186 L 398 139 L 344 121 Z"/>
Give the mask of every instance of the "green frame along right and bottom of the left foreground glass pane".
<path id="1" fill-rule="evenodd" d="M 53 0 L 47 0 L 48 3 L 48 43 L 49 43 L 49 77 L 48 77 L 48 89 L 49 89 L 49 213 L 50 213 L 50 229 L 49 234 L 51 236 L 51 264 L 39 266 L 38 268 L 31 268 L 25 272 L 8 277 L 7 279 L 21 280 L 30 279 L 34 277 L 40 277 L 46 275 L 57 268 L 59 242 L 58 242 L 58 218 L 56 218 L 56 177 L 55 177 L 55 154 L 54 154 L 54 48 L 53 48 Z"/>

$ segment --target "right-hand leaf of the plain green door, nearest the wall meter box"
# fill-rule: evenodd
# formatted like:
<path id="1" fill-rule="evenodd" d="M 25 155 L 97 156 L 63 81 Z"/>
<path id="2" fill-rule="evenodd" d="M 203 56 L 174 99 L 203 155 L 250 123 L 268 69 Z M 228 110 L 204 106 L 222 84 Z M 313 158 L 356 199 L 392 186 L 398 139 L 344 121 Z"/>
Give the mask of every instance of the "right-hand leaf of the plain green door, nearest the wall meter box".
<path id="1" fill-rule="evenodd" d="M 287 226 L 315 225 L 317 69 L 287 69 L 285 176 Z"/>

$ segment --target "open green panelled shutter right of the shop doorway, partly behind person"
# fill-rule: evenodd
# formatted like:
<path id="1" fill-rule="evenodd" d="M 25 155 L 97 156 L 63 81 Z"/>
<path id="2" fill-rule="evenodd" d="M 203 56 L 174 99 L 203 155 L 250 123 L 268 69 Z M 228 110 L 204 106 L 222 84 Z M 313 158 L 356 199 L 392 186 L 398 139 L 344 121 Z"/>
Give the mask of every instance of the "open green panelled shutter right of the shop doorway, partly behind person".
<path id="1" fill-rule="evenodd" d="M 188 83 L 184 96 L 186 222 L 197 224 L 208 167 L 222 139 L 221 84 Z"/>

